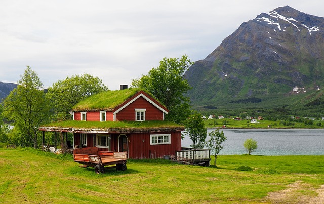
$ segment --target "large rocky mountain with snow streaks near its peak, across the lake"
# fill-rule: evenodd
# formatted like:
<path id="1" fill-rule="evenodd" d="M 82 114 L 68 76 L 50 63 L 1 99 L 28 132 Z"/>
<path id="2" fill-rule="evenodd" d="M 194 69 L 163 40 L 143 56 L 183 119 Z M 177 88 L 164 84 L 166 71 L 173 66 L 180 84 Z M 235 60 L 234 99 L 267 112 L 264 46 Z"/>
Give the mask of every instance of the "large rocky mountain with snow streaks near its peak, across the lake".
<path id="1" fill-rule="evenodd" d="M 324 88 L 324 18 L 289 6 L 261 13 L 184 78 L 194 106 L 290 105 Z"/>

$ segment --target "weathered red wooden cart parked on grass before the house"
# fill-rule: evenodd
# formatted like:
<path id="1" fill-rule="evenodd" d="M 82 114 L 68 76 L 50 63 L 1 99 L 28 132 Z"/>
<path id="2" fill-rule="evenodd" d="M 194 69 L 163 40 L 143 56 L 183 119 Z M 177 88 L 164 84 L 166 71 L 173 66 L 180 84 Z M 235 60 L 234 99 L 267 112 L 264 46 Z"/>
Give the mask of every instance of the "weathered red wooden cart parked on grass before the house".
<path id="1" fill-rule="evenodd" d="M 83 164 L 83 167 L 94 167 L 96 174 L 104 173 L 105 169 L 127 169 L 126 152 L 99 151 L 97 147 L 77 148 L 73 150 L 73 157 L 74 161 Z M 107 167 L 109 165 L 115 166 Z"/>

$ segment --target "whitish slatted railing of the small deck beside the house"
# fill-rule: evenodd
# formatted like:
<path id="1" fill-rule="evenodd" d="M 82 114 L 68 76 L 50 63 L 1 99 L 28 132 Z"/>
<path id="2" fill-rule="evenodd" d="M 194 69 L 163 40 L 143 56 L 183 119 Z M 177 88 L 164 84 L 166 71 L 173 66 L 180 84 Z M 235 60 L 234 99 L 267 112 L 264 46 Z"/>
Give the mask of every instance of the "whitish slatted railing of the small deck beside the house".
<path id="1" fill-rule="evenodd" d="M 193 149 L 188 147 L 182 147 L 182 151 L 175 151 L 175 159 L 178 161 L 185 160 L 204 160 L 210 159 L 210 149 Z"/>

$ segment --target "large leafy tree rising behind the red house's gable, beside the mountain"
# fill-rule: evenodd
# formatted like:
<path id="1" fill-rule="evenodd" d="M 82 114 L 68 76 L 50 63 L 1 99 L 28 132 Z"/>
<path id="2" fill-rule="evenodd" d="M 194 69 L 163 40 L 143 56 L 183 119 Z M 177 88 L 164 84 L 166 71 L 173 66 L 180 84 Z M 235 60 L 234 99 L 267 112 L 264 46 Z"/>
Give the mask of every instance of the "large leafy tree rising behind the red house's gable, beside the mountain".
<path id="1" fill-rule="evenodd" d="M 184 94 L 191 87 L 183 74 L 192 64 L 187 55 L 181 59 L 163 58 L 148 75 L 133 79 L 132 86 L 150 92 L 170 110 L 166 119 L 181 123 L 190 114 L 190 100 Z"/>

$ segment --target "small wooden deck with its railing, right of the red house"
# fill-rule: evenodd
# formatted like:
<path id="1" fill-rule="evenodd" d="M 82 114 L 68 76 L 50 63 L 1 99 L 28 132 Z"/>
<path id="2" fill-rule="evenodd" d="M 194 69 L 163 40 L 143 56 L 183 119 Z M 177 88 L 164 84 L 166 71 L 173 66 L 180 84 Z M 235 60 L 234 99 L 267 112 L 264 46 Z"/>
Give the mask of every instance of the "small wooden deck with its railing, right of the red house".
<path id="1" fill-rule="evenodd" d="M 172 159 L 187 165 L 210 166 L 211 150 L 210 149 L 194 149 L 189 147 L 181 147 L 181 151 L 175 151 L 175 157 Z"/>

